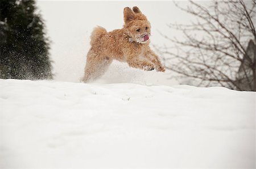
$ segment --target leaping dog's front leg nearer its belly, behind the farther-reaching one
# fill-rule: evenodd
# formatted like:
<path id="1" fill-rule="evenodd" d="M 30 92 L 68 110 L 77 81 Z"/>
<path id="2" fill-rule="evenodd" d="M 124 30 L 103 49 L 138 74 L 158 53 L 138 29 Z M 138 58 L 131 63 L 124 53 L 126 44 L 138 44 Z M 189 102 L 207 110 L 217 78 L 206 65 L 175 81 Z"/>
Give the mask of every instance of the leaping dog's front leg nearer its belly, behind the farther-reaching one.
<path id="1" fill-rule="evenodd" d="M 129 55 L 126 57 L 127 64 L 131 67 L 142 69 L 142 70 L 154 70 L 155 66 L 152 62 L 148 62 L 147 60 L 140 60 L 135 55 Z"/>

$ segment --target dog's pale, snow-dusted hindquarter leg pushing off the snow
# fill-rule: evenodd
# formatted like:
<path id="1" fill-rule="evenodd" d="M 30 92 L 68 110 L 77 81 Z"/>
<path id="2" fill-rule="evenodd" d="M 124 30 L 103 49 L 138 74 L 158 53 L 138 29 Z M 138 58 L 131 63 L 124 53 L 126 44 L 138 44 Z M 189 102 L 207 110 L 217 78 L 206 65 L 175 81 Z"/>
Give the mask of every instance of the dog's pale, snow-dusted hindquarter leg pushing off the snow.
<path id="1" fill-rule="evenodd" d="M 87 83 L 100 78 L 108 70 L 112 61 L 112 58 L 101 56 L 93 50 L 89 50 L 82 82 Z"/>

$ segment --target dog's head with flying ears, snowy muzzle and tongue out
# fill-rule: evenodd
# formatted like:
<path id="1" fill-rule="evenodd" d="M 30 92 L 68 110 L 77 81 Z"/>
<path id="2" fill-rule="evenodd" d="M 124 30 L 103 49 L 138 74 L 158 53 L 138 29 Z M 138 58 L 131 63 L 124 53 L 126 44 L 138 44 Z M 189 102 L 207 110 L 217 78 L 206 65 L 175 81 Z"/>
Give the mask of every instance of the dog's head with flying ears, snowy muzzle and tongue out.
<path id="1" fill-rule="evenodd" d="M 150 37 L 150 22 L 137 6 L 131 10 L 125 7 L 123 10 L 123 19 L 125 20 L 125 31 L 132 41 L 137 43 L 147 43 Z"/>

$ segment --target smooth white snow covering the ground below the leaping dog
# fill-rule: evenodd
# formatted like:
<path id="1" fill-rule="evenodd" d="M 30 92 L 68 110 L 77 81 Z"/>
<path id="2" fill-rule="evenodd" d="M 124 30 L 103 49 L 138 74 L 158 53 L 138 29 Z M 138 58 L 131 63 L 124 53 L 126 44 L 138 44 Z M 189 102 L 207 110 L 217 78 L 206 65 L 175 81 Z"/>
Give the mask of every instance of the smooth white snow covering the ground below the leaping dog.
<path id="1" fill-rule="evenodd" d="M 255 168 L 255 92 L 0 79 L 0 168 Z"/>

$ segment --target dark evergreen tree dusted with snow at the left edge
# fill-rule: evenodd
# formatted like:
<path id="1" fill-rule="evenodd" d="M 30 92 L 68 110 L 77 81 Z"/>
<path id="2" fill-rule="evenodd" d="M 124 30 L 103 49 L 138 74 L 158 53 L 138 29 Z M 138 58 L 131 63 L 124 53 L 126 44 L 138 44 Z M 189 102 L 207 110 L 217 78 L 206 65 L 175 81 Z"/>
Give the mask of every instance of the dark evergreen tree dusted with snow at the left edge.
<path id="1" fill-rule="evenodd" d="M 0 2 L 0 78 L 52 79 L 49 41 L 35 1 Z"/>

